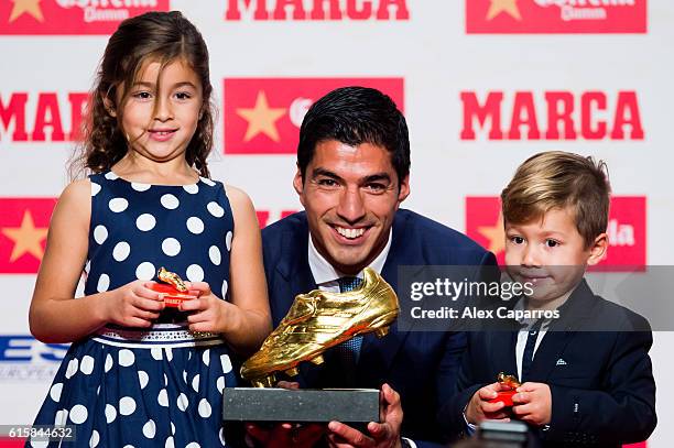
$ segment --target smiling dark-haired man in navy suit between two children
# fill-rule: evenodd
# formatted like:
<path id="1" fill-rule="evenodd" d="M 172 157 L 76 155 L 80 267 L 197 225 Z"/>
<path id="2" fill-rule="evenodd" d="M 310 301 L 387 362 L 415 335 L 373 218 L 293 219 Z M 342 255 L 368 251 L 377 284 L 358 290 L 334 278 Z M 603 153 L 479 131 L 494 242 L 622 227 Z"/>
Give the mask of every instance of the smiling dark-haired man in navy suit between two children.
<path id="1" fill-rule="evenodd" d="M 300 131 L 293 182 L 305 211 L 262 231 L 274 326 L 295 295 L 345 291 L 344 280 L 367 266 L 396 288 L 402 265 L 474 265 L 477 277 L 480 266 L 496 264 L 464 234 L 399 209 L 410 193 L 409 171 L 405 119 L 388 96 L 348 87 L 312 106 Z M 303 387 L 382 387 L 384 422 L 368 425 L 367 434 L 331 422 L 333 445 L 430 446 L 442 441 L 437 404 L 454 390 L 465 341 L 463 332 L 402 331 L 393 325 L 382 339 L 356 338 L 348 348 L 350 368 L 338 353 L 344 347 L 335 347 L 323 365 L 301 364 L 297 381 Z"/>

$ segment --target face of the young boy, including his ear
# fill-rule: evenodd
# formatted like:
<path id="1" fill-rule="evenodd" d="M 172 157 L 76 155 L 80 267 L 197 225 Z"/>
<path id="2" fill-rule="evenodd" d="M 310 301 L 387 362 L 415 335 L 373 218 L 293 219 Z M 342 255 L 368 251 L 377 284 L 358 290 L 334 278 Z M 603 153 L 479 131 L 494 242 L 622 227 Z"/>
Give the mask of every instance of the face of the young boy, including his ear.
<path id="1" fill-rule="evenodd" d="M 506 222 L 506 269 L 513 280 L 533 284 L 530 298 L 539 305 L 576 287 L 587 265 L 601 260 L 606 247 L 602 233 L 586 248 L 570 208 L 552 209 L 543 219 L 523 225 Z"/>

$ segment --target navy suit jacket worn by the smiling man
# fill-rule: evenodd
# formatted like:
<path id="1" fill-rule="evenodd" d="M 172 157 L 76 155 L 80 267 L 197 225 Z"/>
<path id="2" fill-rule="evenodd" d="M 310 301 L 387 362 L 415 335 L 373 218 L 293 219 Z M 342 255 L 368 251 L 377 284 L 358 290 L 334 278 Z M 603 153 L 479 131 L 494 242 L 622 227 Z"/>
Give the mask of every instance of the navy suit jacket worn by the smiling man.
<path id="1" fill-rule="evenodd" d="M 317 287 L 308 266 L 305 214 L 292 215 L 267 227 L 262 241 L 275 327 L 295 295 Z M 477 272 L 477 266 L 494 265 L 496 259 L 466 236 L 412 211 L 399 210 L 382 276 L 395 289 L 399 265 L 426 264 L 475 265 Z M 454 392 L 466 335 L 400 331 L 396 327 L 392 325 L 390 334 L 382 339 L 365 336 L 355 386 L 379 389 L 384 382 L 389 383 L 402 398 L 402 435 L 415 440 L 441 441 L 442 431 L 435 420 L 437 404 L 449 400 Z M 330 369 L 328 353 L 325 359 L 320 367 L 301 364 L 298 381 L 302 386 L 338 385 L 335 381 L 343 372 Z"/>

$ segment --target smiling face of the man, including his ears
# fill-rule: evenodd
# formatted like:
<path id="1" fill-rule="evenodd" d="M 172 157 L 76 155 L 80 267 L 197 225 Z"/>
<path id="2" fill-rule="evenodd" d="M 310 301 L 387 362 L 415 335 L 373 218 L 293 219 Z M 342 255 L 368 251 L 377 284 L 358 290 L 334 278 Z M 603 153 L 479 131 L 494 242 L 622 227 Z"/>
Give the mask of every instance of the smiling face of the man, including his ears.
<path id="1" fill-rule="evenodd" d="M 356 146 L 337 140 L 316 144 L 305 178 L 293 181 L 306 210 L 312 240 L 338 271 L 356 274 L 387 245 L 395 211 L 410 194 L 390 153 L 381 146 Z"/>

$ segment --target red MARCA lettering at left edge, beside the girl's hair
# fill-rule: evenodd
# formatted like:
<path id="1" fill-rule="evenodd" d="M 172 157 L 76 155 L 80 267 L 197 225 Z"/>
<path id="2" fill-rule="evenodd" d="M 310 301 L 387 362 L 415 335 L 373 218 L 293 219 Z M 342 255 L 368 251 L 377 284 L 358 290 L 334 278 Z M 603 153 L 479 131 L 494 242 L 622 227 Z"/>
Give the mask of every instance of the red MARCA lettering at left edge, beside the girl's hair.
<path id="1" fill-rule="evenodd" d="M 0 140 L 13 142 L 64 142 L 79 140 L 81 117 L 89 95 L 68 92 L 67 99 L 56 92 L 0 92 Z M 26 105 L 34 110 L 28 117 Z M 32 107 L 34 106 L 34 108 Z M 69 118 L 69 129 L 64 129 L 63 118 Z"/>

